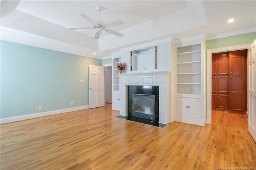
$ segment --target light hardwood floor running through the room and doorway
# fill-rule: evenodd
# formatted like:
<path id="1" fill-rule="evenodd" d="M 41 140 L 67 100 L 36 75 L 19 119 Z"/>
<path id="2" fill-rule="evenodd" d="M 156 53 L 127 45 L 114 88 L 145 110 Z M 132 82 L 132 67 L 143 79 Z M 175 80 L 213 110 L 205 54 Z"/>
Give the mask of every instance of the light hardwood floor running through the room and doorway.
<path id="1" fill-rule="evenodd" d="M 106 107 L 1 125 L 1 170 L 256 169 L 247 118 L 212 112 L 212 125 L 164 128 L 115 118 Z M 243 115 L 244 116 L 244 115 Z"/>

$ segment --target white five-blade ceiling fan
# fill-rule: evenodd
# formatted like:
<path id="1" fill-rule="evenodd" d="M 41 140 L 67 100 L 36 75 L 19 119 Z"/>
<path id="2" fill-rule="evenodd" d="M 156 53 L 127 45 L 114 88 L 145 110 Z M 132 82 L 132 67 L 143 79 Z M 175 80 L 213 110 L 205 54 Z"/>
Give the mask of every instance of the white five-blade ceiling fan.
<path id="1" fill-rule="evenodd" d="M 119 32 L 108 29 L 109 27 L 122 25 L 122 24 L 124 24 L 124 22 L 122 20 L 117 20 L 117 21 L 105 24 L 104 22 L 100 21 L 100 11 L 103 10 L 104 8 L 102 6 L 97 6 L 96 8 L 99 11 L 99 21 L 98 22 L 94 22 L 91 18 L 89 18 L 85 14 L 79 14 L 80 16 L 85 18 L 87 21 L 92 23 L 93 27 L 81 27 L 81 28 L 70 28 L 70 29 L 71 30 L 81 30 L 81 29 L 94 29 L 94 28 L 96 28 L 97 32 L 95 33 L 94 39 L 99 39 L 100 38 L 100 33 L 102 32 L 102 30 L 104 30 L 104 31 L 106 31 L 110 34 L 114 34 L 116 36 L 119 36 L 119 37 L 124 36 L 124 34 L 121 34 Z"/>

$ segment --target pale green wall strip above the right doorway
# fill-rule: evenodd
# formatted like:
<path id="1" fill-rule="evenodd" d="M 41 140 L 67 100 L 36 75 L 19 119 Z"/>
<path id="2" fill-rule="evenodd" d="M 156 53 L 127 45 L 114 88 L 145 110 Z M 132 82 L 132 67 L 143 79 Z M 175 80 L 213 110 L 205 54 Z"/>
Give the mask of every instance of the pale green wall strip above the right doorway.
<path id="1" fill-rule="evenodd" d="M 256 32 L 240 34 L 236 36 L 229 36 L 225 38 L 218 38 L 206 41 L 206 50 L 228 47 L 233 45 L 242 45 L 252 43 L 256 39 Z"/>

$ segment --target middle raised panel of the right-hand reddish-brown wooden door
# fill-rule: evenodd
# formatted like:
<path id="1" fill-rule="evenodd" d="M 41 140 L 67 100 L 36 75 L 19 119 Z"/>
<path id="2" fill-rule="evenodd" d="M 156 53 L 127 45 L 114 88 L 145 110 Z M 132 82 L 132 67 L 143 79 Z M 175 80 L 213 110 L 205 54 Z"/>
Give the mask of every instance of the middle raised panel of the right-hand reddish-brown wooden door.
<path id="1" fill-rule="evenodd" d="M 244 93 L 246 81 L 244 74 L 235 74 L 230 76 L 230 93 Z"/>

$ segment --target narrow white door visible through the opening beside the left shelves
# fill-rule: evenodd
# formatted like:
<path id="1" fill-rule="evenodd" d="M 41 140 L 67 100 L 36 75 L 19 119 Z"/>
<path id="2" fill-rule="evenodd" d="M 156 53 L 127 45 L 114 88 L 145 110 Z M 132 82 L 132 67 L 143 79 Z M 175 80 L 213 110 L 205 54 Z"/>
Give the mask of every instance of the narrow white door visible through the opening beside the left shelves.
<path id="1" fill-rule="evenodd" d="M 106 103 L 112 103 L 112 69 L 105 68 Z"/>

